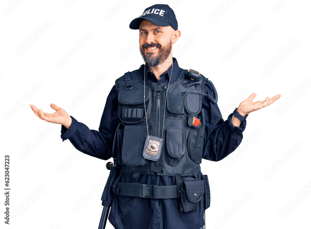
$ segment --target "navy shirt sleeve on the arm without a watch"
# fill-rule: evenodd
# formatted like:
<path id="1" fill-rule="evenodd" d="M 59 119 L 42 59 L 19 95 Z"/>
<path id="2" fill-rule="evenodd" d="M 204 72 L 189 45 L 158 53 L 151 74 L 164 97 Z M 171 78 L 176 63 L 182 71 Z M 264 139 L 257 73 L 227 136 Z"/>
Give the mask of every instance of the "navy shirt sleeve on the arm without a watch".
<path id="1" fill-rule="evenodd" d="M 100 120 L 99 131 L 90 130 L 85 124 L 72 116 L 72 124 L 67 129 L 62 125 L 61 138 L 69 139 L 72 145 L 82 153 L 108 160 L 112 157 L 114 133 L 120 122 L 118 118 L 117 93 L 113 87 L 107 97 L 104 112 Z"/>

